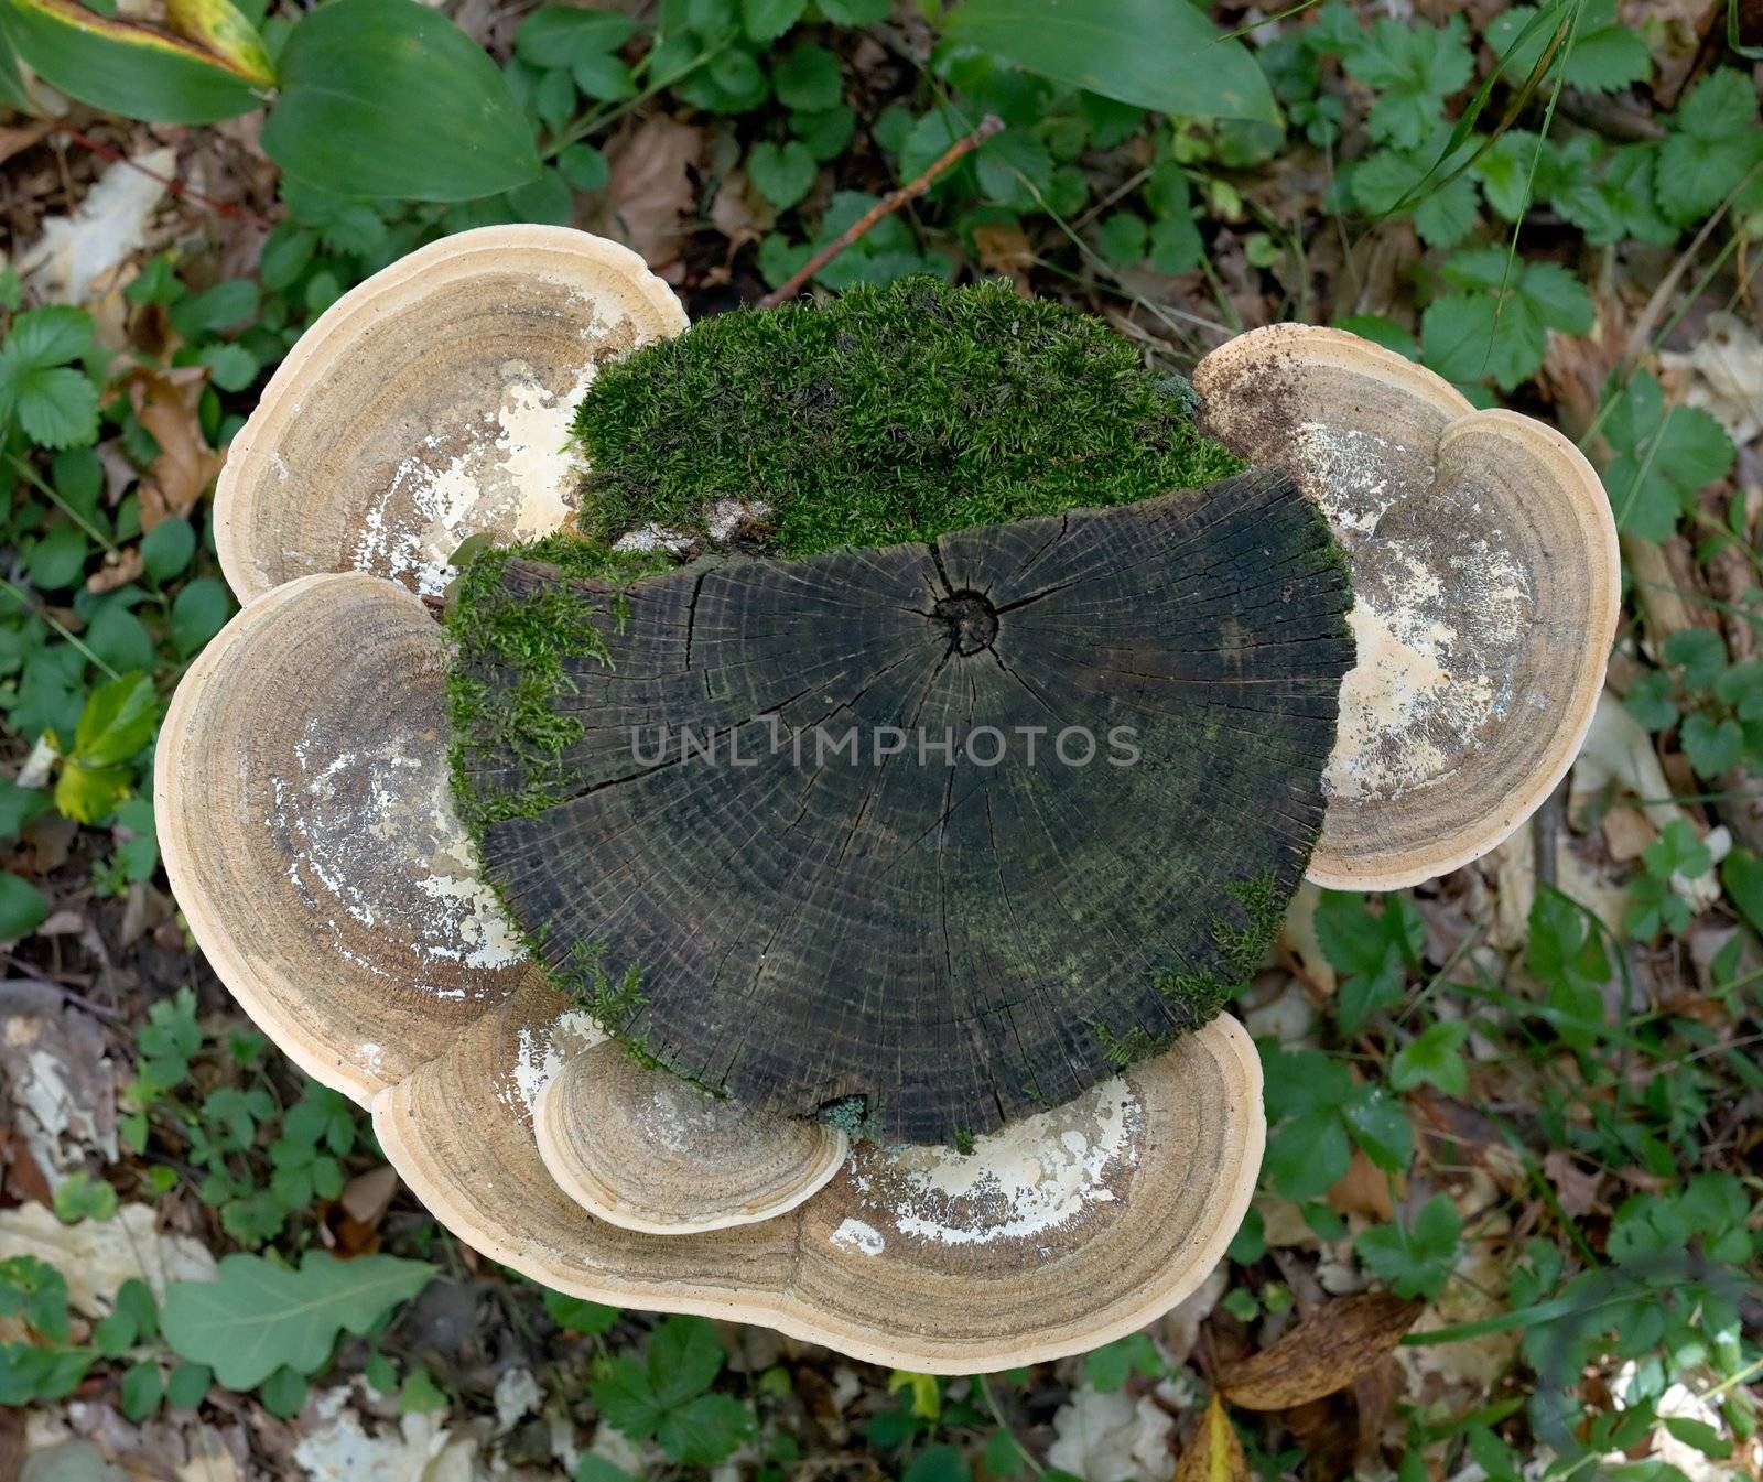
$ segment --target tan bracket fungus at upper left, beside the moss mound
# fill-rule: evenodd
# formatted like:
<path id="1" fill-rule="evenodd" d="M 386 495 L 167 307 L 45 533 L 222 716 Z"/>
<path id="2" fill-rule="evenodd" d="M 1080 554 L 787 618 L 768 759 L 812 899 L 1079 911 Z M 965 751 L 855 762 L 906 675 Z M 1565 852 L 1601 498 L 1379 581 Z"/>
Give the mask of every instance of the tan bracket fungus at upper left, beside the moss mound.
<path id="1" fill-rule="evenodd" d="M 615 241 L 494 226 L 423 247 L 324 310 L 270 377 L 215 488 L 242 603 L 370 571 L 439 596 L 453 552 L 559 529 L 569 418 L 610 358 L 686 328 Z"/>

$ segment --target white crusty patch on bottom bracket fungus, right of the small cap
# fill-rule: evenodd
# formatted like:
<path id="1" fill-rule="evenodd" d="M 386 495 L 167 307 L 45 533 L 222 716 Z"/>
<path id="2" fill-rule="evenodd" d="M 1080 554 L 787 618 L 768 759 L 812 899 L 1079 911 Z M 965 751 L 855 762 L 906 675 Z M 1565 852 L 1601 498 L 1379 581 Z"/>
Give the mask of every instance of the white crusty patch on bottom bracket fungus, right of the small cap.
<path id="1" fill-rule="evenodd" d="M 1142 1135 L 1144 1107 L 1127 1080 L 1114 1077 L 1063 1107 L 978 1138 L 970 1154 L 952 1147 L 859 1149 L 852 1184 L 883 1232 L 943 1246 L 1040 1244 L 1121 1198 Z M 839 1234 L 832 1239 L 837 1244 Z"/>

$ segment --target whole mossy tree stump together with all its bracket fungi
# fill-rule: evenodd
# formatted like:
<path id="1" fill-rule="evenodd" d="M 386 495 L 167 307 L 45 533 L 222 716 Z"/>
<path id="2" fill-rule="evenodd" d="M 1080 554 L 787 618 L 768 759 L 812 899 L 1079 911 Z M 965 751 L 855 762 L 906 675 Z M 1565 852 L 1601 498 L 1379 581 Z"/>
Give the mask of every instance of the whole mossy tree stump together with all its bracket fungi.
<path id="1" fill-rule="evenodd" d="M 495 1260 L 919 1371 L 1079 1352 L 1248 1207 L 1220 1010 L 1306 867 L 1447 867 L 1566 765 L 1608 511 L 1347 337 L 1225 345 L 1195 416 L 1000 289 L 777 315 L 675 354 L 666 285 L 550 227 L 328 310 L 222 476 L 245 606 L 166 719 L 167 871 Z M 776 335 L 765 395 L 673 414 Z"/>

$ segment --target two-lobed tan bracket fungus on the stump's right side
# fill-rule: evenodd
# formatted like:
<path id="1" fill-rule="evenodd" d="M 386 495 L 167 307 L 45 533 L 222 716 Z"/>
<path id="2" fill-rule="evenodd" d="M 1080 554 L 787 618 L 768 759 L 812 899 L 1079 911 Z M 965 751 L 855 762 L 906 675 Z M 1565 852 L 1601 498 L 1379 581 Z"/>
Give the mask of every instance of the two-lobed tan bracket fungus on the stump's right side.
<path id="1" fill-rule="evenodd" d="M 1215 437 L 1322 506 L 1352 569 L 1310 879 L 1396 890 L 1484 855 L 1566 775 L 1603 687 L 1620 557 L 1597 474 L 1340 330 L 1238 335 L 1194 388 Z"/>

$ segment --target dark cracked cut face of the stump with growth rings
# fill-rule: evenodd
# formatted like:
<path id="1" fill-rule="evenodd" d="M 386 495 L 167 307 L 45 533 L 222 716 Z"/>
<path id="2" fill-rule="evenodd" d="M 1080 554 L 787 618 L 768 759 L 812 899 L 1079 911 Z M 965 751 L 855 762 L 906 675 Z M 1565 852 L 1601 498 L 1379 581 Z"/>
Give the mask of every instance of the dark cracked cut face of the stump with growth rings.
<path id="1" fill-rule="evenodd" d="M 571 590 L 612 664 L 554 701 L 569 800 L 487 826 L 483 863 L 608 1027 L 769 1108 L 862 1098 L 947 1142 L 1065 1101 L 1218 1010 L 1320 828 L 1352 597 L 1282 476 Z M 984 726 L 998 765 L 989 735 L 919 751 Z M 816 756 L 848 728 L 857 763 Z"/>

